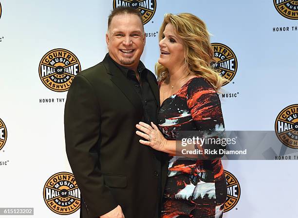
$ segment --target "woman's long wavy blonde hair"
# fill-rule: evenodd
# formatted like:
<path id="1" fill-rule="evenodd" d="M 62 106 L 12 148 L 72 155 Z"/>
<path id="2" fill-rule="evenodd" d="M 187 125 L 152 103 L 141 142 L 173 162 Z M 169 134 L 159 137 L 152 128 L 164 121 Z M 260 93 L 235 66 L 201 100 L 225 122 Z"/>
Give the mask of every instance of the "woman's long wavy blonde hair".
<path id="1" fill-rule="evenodd" d="M 189 13 L 166 14 L 159 30 L 159 41 L 162 40 L 168 23 L 172 24 L 176 34 L 184 42 L 184 57 L 188 73 L 207 79 L 218 91 L 225 79 L 210 66 L 213 60 L 213 49 L 204 21 Z M 158 81 L 163 81 L 169 74 L 168 69 L 160 63 L 155 64 L 155 72 Z"/>

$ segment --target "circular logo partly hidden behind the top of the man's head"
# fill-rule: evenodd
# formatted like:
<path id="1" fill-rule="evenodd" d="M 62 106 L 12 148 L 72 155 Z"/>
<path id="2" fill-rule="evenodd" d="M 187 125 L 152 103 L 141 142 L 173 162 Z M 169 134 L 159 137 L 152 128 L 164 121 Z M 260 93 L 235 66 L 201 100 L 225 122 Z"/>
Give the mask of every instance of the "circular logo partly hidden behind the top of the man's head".
<path id="1" fill-rule="evenodd" d="M 155 14 L 156 0 L 113 0 L 113 9 L 120 6 L 136 8 L 141 13 L 144 24 L 146 24 Z"/>

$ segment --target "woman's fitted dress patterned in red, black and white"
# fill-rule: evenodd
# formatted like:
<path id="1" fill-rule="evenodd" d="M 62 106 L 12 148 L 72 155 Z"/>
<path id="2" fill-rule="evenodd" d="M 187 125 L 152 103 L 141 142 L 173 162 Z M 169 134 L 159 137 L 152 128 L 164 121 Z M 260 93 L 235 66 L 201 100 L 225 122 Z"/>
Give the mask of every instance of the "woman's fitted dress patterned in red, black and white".
<path id="1" fill-rule="evenodd" d="M 169 140 L 175 140 L 177 131 L 224 130 L 216 91 L 202 77 L 189 79 L 162 103 L 158 127 Z M 222 218 L 226 192 L 220 159 L 169 156 L 162 218 Z"/>

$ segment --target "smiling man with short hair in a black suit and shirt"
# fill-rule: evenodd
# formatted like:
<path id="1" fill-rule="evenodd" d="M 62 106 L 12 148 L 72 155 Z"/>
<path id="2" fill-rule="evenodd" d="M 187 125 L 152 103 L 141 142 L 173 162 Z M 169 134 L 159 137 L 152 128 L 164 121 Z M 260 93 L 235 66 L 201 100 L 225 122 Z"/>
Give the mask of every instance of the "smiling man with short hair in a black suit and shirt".
<path id="1" fill-rule="evenodd" d="M 66 152 L 81 191 L 81 218 L 159 217 L 167 161 L 135 134 L 139 121 L 156 123 L 159 109 L 156 78 L 140 61 L 145 41 L 137 10 L 114 9 L 109 53 L 69 89 Z"/>

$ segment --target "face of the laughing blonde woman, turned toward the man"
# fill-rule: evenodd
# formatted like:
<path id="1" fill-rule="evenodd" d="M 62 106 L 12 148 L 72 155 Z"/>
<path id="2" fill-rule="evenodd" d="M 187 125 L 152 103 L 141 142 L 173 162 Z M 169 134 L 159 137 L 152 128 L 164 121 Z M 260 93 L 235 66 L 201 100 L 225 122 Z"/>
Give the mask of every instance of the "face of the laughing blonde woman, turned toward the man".
<path id="1" fill-rule="evenodd" d="M 172 24 L 168 23 L 159 42 L 158 62 L 170 68 L 179 68 L 185 64 L 183 40 L 177 36 Z"/>

